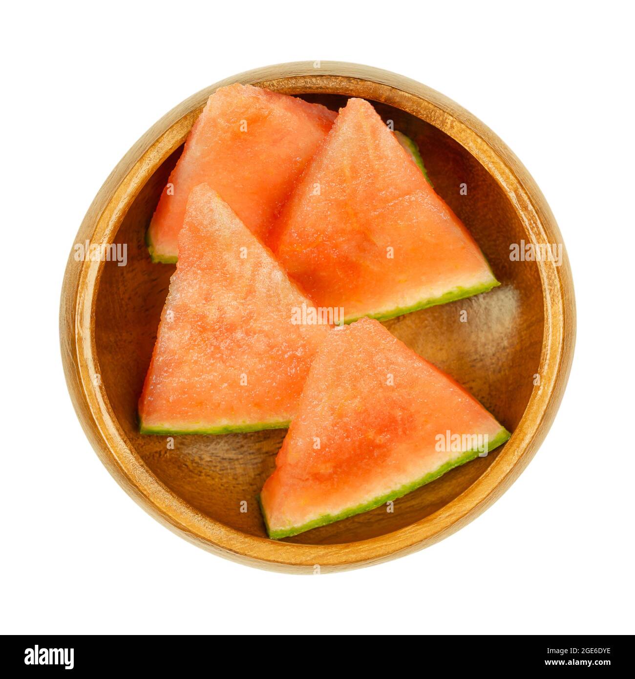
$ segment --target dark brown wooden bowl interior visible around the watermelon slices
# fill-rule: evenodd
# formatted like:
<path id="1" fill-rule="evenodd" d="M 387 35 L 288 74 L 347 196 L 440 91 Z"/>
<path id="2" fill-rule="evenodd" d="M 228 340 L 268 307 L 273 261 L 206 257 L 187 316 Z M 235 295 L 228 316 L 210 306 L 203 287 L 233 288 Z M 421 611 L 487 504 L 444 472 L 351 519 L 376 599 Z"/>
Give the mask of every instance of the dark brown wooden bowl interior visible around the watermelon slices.
<path id="1" fill-rule="evenodd" d="M 304 98 L 333 110 L 346 101 L 336 94 Z M 407 314 L 385 325 L 407 346 L 450 373 L 513 431 L 530 399 L 543 340 L 537 264 L 514 261 L 512 265 L 509 260 L 509 244 L 526 238 L 522 223 L 493 177 L 450 136 L 409 113 L 372 103 L 384 120 L 393 120 L 396 130 L 418 143 L 436 191 L 467 225 L 502 284 L 484 295 Z M 177 436 L 173 447 L 168 437 L 142 436 L 138 430 L 137 401 L 175 270 L 174 265 L 151 263 L 145 230 L 181 151 L 182 147 L 156 169 L 122 221 L 115 242 L 127 244 L 127 265 L 111 261 L 103 267 L 95 310 L 96 359 L 113 413 L 153 474 L 211 519 L 266 537 L 256 498 L 274 469 L 284 430 Z M 285 541 L 351 543 L 413 524 L 464 492 L 501 449 L 396 500 L 392 513 L 378 507 Z"/>

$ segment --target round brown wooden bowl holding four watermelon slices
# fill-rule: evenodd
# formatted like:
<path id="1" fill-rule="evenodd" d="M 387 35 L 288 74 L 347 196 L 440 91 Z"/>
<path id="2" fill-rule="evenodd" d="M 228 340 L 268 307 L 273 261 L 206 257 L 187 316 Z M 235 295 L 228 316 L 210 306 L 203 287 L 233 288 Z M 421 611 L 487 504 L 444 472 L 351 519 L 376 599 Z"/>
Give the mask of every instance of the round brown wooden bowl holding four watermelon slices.
<path id="1" fill-rule="evenodd" d="M 173 265 L 151 263 L 145 231 L 206 99 L 234 82 L 299 94 L 335 110 L 349 96 L 370 100 L 384 120 L 418 142 L 435 189 L 475 236 L 502 283 L 386 326 L 512 431 L 507 444 L 396 500 L 393 513 L 379 507 L 281 541 L 266 537 L 256 497 L 274 469 L 285 431 L 181 436 L 170 447 L 166 437 L 139 434 L 137 424 L 137 400 L 174 271 Z M 243 564 L 293 572 L 320 566 L 328 572 L 427 547 L 465 526 L 509 488 L 556 415 L 575 341 L 566 253 L 561 265 L 510 259 L 510 244 L 562 244 L 551 210 L 491 130 L 452 100 L 400 75 L 298 62 L 242 73 L 194 94 L 150 128 L 113 170 L 75 242 L 86 240 L 128 246 L 126 266 L 75 261 L 72 252 L 67 264 L 62 359 L 86 435 L 141 507 L 192 543 Z"/>

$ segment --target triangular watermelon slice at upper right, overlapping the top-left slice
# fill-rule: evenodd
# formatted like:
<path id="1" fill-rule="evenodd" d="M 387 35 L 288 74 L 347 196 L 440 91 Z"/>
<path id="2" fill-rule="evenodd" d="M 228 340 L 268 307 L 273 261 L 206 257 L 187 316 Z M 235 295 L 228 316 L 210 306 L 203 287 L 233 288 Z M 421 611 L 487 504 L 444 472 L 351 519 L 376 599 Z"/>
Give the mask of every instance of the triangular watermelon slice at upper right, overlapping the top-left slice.
<path id="1" fill-rule="evenodd" d="M 458 217 L 375 109 L 352 98 L 269 244 L 319 306 L 391 318 L 498 285 Z"/>

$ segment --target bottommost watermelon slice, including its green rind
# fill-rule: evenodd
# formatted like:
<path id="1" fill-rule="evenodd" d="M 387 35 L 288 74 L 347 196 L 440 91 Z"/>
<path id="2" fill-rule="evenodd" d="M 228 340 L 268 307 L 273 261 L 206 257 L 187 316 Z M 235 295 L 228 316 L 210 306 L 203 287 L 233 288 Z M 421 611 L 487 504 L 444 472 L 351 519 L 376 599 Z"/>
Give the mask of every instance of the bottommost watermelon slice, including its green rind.
<path id="1" fill-rule="evenodd" d="M 378 321 L 334 329 L 260 495 L 271 538 L 394 500 L 504 443 L 509 432 Z"/>

